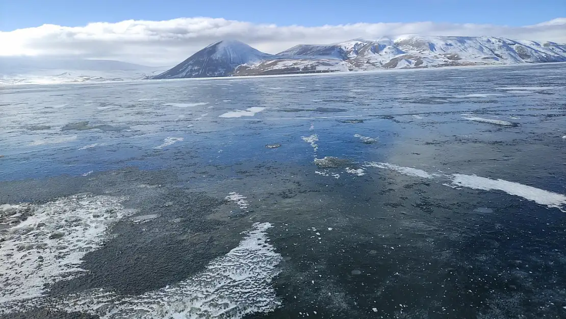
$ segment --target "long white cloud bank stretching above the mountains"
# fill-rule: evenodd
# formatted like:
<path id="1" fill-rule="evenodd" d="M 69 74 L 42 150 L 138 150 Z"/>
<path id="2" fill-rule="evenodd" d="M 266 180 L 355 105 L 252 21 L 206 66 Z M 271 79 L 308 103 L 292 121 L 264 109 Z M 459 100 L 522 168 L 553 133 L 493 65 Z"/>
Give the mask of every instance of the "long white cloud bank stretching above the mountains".
<path id="1" fill-rule="evenodd" d="M 118 59 L 147 65 L 174 65 L 204 46 L 236 39 L 267 53 L 297 44 L 329 44 L 355 38 L 378 39 L 406 33 L 446 36 L 501 36 L 566 42 L 566 18 L 525 27 L 434 22 L 356 23 L 303 27 L 254 24 L 213 18 L 166 21 L 97 22 L 84 27 L 44 24 L 0 32 L 0 56 L 56 56 Z"/>

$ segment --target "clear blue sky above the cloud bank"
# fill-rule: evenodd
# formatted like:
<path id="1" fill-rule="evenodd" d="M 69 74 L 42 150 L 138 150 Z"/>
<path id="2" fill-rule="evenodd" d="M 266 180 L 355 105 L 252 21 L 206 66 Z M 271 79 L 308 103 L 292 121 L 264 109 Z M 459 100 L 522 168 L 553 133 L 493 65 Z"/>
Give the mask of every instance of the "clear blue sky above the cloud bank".
<path id="1" fill-rule="evenodd" d="M 0 0 L 0 31 L 49 23 L 76 27 L 128 19 L 209 16 L 305 26 L 356 22 L 529 25 L 566 16 L 565 0 Z"/>

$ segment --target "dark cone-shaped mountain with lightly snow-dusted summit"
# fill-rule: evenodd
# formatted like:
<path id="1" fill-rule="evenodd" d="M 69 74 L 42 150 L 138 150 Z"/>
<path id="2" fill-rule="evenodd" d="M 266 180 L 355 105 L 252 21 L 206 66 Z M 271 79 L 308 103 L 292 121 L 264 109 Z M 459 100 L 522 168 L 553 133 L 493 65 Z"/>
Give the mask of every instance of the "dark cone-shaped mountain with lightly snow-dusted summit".
<path id="1" fill-rule="evenodd" d="M 240 65 L 253 65 L 274 58 L 271 54 L 260 52 L 243 42 L 224 40 L 207 46 L 173 69 L 151 78 L 179 79 L 228 76 Z"/>

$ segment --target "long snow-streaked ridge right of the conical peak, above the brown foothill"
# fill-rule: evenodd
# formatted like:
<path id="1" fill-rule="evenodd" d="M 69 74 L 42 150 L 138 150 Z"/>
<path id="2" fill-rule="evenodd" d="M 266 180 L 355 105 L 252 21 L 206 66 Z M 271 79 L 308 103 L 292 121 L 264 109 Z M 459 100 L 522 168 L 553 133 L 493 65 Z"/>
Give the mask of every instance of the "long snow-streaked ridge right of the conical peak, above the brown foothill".
<path id="1" fill-rule="evenodd" d="M 566 45 L 500 37 L 400 36 L 297 45 L 280 54 L 342 58 L 351 70 L 566 61 Z"/>

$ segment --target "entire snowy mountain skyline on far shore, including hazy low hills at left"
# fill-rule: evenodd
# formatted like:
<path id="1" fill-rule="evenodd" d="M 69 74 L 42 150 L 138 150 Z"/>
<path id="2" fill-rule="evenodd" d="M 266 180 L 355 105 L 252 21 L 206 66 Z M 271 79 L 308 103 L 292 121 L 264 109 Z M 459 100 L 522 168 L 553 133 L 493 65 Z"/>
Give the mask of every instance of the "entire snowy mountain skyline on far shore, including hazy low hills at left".
<path id="1" fill-rule="evenodd" d="M 566 62 L 566 45 L 502 37 L 410 35 L 297 45 L 278 54 L 267 54 L 239 41 L 224 40 L 171 69 L 109 60 L 0 57 L 0 85 L 539 62 Z"/>

